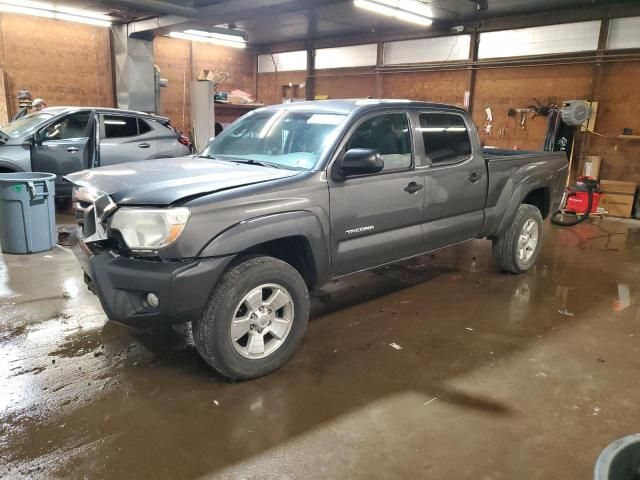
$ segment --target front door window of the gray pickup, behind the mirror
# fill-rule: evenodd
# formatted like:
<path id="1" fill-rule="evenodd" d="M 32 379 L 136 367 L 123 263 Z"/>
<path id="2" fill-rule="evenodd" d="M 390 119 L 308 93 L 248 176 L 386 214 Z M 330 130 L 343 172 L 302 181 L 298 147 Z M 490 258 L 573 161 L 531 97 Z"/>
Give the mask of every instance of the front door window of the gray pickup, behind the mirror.
<path id="1" fill-rule="evenodd" d="M 384 160 L 383 172 L 411 168 L 411 135 L 404 113 L 386 113 L 360 124 L 347 143 L 352 148 L 373 148 Z"/>

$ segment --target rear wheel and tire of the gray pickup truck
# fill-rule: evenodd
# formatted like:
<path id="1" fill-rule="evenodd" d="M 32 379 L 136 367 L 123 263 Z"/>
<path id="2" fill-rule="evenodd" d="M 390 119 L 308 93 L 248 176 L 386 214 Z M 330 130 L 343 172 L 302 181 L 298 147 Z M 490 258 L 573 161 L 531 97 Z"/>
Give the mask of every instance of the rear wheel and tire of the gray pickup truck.
<path id="1" fill-rule="evenodd" d="M 523 273 L 535 263 L 542 248 L 542 215 L 522 204 L 506 232 L 493 240 L 493 255 L 504 272 Z"/>

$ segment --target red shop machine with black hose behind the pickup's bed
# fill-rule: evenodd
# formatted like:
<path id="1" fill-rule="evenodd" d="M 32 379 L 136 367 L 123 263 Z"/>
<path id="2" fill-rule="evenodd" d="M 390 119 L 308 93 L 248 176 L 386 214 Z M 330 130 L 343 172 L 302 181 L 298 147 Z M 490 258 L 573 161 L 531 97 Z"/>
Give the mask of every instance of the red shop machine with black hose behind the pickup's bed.
<path id="1" fill-rule="evenodd" d="M 591 177 L 578 177 L 575 185 L 567 187 L 562 207 L 551 219 L 555 225 L 572 227 L 584 222 L 589 215 L 598 211 L 602 191 L 598 181 Z M 565 219 L 565 215 L 575 218 Z"/>

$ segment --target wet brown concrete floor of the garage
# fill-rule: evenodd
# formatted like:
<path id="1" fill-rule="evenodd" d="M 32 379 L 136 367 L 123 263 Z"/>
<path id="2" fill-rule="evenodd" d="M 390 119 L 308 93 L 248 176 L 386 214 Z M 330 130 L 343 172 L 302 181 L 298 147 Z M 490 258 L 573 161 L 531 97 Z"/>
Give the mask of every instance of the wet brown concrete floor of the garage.
<path id="1" fill-rule="evenodd" d="M 63 248 L 0 257 L 0 477 L 587 479 L 640 430 L 640 227 L 546 225 L 333 283 L 268 377 L 105 323 Z M 390 344 L 397 344 L 396 349 Z"/>

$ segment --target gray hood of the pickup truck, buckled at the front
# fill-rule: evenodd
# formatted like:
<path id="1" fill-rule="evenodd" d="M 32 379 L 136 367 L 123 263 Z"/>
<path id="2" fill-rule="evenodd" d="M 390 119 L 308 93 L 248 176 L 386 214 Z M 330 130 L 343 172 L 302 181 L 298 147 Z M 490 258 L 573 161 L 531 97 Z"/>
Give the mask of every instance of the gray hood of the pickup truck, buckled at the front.
<path id="1" fill-rule="evenodd" d="M 65 178 L 106 194 L 121 205 L 170 205 L 230 188 L 268 182 L 300 173 L 202 157 L 163 158 L 122 163 L 72 173 Z"/>

